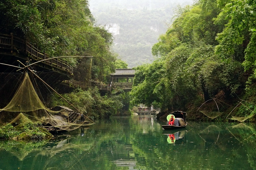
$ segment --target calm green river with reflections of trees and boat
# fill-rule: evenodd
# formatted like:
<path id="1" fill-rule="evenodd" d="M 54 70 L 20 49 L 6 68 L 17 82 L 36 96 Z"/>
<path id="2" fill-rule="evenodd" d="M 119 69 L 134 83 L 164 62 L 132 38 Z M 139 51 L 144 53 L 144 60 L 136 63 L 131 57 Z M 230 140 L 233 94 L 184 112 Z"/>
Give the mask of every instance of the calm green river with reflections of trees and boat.
<path id="1" fill-rule="evenodd" d="M 184 129 L 167 131 L 164 122 L 148 115 L 95 123 L 49 141 L 2 140 L 0 169 L 256 169 L 252 124 L 189 122 Z"/>

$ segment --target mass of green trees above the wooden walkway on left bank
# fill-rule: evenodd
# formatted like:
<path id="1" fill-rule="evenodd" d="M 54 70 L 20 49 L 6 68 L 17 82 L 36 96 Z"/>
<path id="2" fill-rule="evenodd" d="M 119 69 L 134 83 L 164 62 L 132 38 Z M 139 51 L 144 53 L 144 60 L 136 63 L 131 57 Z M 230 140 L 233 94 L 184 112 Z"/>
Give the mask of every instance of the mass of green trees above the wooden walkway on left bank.
<path id="1" fill-rule="evenodd" d="M 76 67 L 77 81 L 90 78 L 105 81 L 114 72 L 117 58 L 111 47 L 113 36 L 103 26 L 93 25 L 87 0 L 1 1 L 0 32 L 14 33 L 50 56 L 92 56 L 87 59 L 63 58 Z"/>

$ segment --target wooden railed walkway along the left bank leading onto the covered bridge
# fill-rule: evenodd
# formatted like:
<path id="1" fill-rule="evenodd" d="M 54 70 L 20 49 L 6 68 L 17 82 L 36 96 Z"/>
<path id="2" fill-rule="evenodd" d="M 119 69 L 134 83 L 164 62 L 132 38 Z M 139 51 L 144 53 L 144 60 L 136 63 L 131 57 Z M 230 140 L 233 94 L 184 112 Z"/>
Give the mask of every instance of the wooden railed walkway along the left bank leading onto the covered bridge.
<path id="1" fill-rule="evenodd" d="M 56 69 L 56 71 L 62 70 L 62 74 L 66 74 L 67 78 L 64 79 L 63 83 L 68 83 L 73 85 L 74 87 L 80 87 L 82 89 L 88 89 L 92 85 L 90 83 L 79 82 L 75 80 L 67 80 L 68 77 L 71 78 L 73 75 L 73 68 L 67 63 L 67 61 L 63 61 L 60 59 L 50 59 L 47 53 L 41 52 L 36 47 L 32 46 L 26 40 L 20 39 L 18 37 L 13 36 L 11 33 L 10 35 L 7 34 L 0 34 L 0 60 L 5 57 L 15 56 L 17 58 L 23 60 L 32 60 L 33 62 L 42 61 L 37 64 L 39 67 L 43 67 L 45 69 Z M 49 59 L 49 60 L 45 60 Z M 47 67 L 46 67 L 47 66 Z M 117 69 L 118 70 L 118 69 Z M 119 69 L 124 70 L 124 69 Z M 131 70 L 131 69 L 125 69 Z M 134 70 L 132 70 L 134 71 Z M 124 75 L 119 75 L 119 77 L 123 77 Z M 131 75 L 129 75 L 131 77 Z M 134 75 L 132 74 L 132 77 Z M 101 84 L 96 85 L 101 91 L 110 92 L 113 88 L 122 88 L 124 91 L 131 91 L 132 89 L 132 82 L 111 82 L 110 85 Z"/>

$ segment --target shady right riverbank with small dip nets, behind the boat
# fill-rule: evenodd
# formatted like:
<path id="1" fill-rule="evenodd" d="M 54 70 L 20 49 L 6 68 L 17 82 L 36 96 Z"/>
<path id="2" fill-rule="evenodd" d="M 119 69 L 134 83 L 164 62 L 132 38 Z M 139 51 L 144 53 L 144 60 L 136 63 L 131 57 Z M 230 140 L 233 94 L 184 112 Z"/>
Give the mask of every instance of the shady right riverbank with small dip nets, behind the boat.
<path id="1" fill-rule="evenodd" d="M 238 96 L 227 96 L 224 93 L 219 93 L 214 99 L 207 102 L 192 101 L 187 103 L 184 108 L 178 110 L 187 112 L 187 121 L 200 122 L 256 122 L 254 115 L 254 107 L 256 98 L 252 95 L 256 88 L 253 86 L 248 91 L 253 93 L 240 93 Z M 245 101 L 247 100 L 247 101 Z M 247 105 L 247 106 L 246 106 Z M 173 110 L 176 111 L 176 110 Z M 172 111 L 161 111 L 157 114 L 157 119 L 166 121 L 167 115 Z"/>

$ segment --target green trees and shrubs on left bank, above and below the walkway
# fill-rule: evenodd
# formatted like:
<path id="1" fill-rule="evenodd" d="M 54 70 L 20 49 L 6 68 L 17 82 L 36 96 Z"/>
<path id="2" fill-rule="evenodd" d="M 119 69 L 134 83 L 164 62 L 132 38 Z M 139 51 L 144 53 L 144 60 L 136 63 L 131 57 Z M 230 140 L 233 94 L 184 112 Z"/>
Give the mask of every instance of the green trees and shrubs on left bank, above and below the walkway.
<path id="1" fill-rule="evenodd" d="M 92 56 L 89 60 L 63 58 L 74 68 L 73 79 L 76 81 L 96 84 L 108 82 L 107 76 L 115 68 L 127 67 L 125 62 L 117 59 L 117 54 L 111 49 L 112 34 L 103 26 L 94 25 L 95 19 L 87 0 L 4 0 L 0 2 L 0 16 L 1 34 L 13 33 L 15 37 L 26 40 L 51 57 Z M 8 56 L 1 55 L 0 62 L 6 57 Z M 7 97 L 2 93 L 0 95 Z M 125 98 L 125 95 L 101 96 L 97 87 L 88 90 L 75 89 L 62 95 L 70 103 L 75 103 L 79 110 L 84 110 L 87 116 L 96 118 L 119 113 Z M 51 99 L 55 97 L 49 97 L 48 100 Z M 58 103 L 48 103 L 47 108 L 66 104 L 60 98 Z"/>

